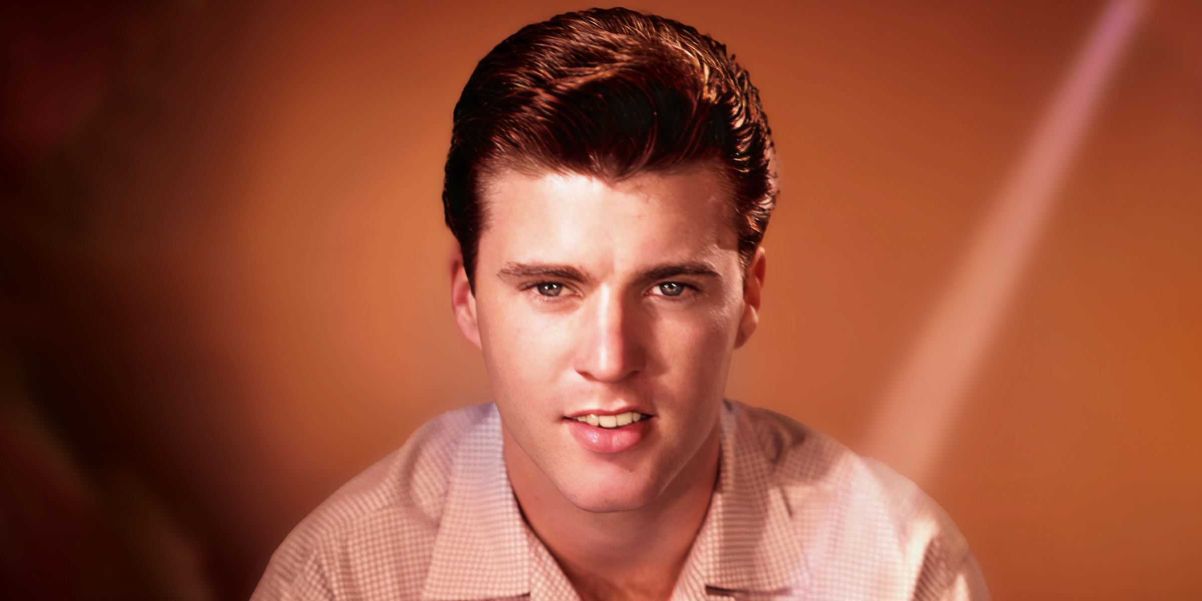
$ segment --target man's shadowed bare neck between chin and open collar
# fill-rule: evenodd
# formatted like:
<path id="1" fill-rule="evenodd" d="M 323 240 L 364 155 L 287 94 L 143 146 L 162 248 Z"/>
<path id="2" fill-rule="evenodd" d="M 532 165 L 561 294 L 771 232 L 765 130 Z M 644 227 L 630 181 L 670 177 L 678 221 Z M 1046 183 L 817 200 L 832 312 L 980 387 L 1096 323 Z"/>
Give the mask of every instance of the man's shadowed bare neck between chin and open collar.
<path id="1" fill-rule="evenodd" d="M 672 596 L 718 480 L 719 428 L 650 504 L 584 511 L 569 501 L 505 433 L 505 463 L 526 523 L 583 601 Z"/>

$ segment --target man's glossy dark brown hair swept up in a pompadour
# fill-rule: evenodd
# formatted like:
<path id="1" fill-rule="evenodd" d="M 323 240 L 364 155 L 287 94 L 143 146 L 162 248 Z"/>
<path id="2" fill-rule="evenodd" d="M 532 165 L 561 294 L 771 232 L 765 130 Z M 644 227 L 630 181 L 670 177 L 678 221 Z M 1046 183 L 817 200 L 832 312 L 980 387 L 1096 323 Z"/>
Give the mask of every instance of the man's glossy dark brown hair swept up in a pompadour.
<path id="1" fill-rule="evenodd" d="M 442 207 L 475 287 L 481 180 L 548 168 L 620 180 L 712 162 L 730 183 L 744 263 L 776 196 L 760 94 L 726 47 L 626 8 L 526 25 L 493 48 L 454 107 Z"/>

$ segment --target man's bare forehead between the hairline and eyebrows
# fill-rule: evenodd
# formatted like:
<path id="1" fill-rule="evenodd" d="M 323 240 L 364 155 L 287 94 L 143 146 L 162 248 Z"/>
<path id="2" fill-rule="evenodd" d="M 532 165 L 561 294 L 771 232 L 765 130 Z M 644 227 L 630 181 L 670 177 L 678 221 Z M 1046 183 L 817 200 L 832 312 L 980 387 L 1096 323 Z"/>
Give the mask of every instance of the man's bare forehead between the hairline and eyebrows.
<path id="1" fill-rule="evenodd" d="M 614 266 L 738 250 L 730 186 L 704 165 L 620 180 L 507 169 L 483 184 L 481 261 Z"/>

